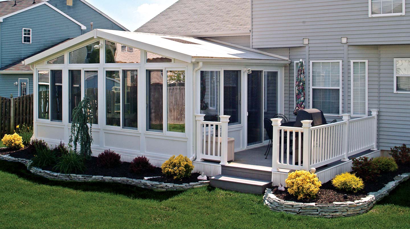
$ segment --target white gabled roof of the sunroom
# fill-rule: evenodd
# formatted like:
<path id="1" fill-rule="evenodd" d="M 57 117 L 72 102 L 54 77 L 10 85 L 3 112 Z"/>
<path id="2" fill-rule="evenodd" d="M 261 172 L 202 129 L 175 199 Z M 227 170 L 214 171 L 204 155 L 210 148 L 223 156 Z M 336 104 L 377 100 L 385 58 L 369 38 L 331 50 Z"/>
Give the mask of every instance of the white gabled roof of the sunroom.
<path id="1" fill-rule="evenodd" d="M 196 59 L 230 59 L 230 60 L 263 60 L 263 61 L 289 61 L 286 57 L 261 52 L 237 45 L 218 43 L 216 41 L 197 39 L 186 36 L 169 36 L 162 34 L 148 34 L 126 32 L 108 29 L 94 29 L 64 44 L 57 45 L 45 52 L 39 53 L 25 60 L 25 64 L 34 63 L 52 54 L 66 50 L 91 38 L 103 38 L 121 43 L 133 48 L 147 50 L 191 63 Z"/>

